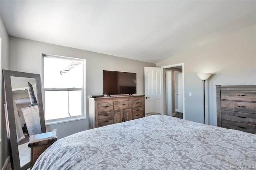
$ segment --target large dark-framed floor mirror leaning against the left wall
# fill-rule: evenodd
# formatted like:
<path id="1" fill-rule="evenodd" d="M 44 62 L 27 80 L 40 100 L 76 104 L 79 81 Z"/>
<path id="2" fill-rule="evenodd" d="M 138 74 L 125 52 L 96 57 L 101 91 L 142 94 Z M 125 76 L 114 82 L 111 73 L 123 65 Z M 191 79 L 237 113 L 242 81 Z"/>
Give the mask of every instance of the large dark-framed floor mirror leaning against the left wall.
<path id="1" fill-rule="evenodd" d="M 39 74 L 3 70 L 5 116 L 12 170 L 30 168 L 29 137 L 46 132 Z"/>

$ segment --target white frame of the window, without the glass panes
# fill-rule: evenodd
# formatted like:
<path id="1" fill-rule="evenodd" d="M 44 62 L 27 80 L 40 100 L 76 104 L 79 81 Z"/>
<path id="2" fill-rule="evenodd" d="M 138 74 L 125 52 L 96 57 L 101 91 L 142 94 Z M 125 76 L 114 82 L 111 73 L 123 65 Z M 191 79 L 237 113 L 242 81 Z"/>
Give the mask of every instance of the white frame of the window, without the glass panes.
<path id="1" fill-rule="evenodd" d="M 44 88 L 44 58 L 45 57 L 81 61 L 82 65 L 83 65 L 82 88 Z M 85 86 L 86 86 L 86 59 L 78 59 L 78 58 L 74 58 L 74 57 L 64 57 L 64 56 L 59 56 L 59 55 L 43 53 L 42 54 L 42 98 L 43 98 L 42 100 L 43 100 L 44 111 L 46 111 L 46 109 L 45 109 L 46 108 L 46 106 L 45 106 L 45 92 L 46 91 L 77 91 L 77 90 L 82 91 L 81 115 L 45 120 L 45 124 L 53 125 L 53 124 L 58 124 L 58 123 L 86 119 L 86 87 Z M 46 115 L 46 112 L 44 112 L 44 117 L 45 117 L 45 115 Z"/>

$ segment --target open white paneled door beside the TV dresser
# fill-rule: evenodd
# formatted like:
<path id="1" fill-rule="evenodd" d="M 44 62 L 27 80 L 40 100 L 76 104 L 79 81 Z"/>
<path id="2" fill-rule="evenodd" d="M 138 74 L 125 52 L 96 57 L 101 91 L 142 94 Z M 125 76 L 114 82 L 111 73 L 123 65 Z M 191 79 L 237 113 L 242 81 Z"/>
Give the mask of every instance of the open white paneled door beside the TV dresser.
<path id="1" fill-rule="evenodd" d="M 164 68 L 144 67 L 145 113 L 165 115 Z"/>

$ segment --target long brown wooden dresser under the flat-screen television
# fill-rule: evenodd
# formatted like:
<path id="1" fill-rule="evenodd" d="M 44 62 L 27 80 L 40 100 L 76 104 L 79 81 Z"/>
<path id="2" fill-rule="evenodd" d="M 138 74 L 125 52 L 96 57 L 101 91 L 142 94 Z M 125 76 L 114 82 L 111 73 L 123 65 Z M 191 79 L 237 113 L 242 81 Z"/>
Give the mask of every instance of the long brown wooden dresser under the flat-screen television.
<path id="1" fill-rule="evenodd" d="M 144 95 L 89 97 L 89 129 L 145 117 Z"/>

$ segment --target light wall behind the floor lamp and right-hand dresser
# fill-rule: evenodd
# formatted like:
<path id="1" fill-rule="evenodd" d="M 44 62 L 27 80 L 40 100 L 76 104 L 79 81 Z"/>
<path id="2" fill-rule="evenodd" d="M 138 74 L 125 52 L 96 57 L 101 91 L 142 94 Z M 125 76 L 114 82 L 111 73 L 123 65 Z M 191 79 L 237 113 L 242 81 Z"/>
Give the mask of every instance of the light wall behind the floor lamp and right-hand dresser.
<path id="1" fill-rule="evenodd" d="M 184 63 L 185 119 L 203 123 L 202 80 L 197 73 L 213 73 L 206 81 L 206 124 L 216 123 L 215 85 L 256 84 L 256 25 L 156 63 L 157 67 Z M 192 97 L 188 93 L 192 92 Z"/>

